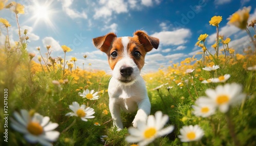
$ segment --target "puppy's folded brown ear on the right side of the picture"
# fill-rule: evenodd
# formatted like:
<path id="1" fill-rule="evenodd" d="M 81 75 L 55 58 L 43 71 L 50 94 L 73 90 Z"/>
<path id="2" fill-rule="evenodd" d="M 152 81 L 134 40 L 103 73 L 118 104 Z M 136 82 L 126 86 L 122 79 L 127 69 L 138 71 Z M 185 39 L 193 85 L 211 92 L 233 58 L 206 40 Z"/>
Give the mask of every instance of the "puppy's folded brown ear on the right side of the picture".
<path id="1" fill-rule="evenodd" d="M 146 52 L 149 52 L 154 48 L 158 48 L 159 39 L 155 37 L 148 36 L 144 31 L 136 31 L 134 35 L 137 35 L 140 43 L 142 43 L 146 49 Z"/>

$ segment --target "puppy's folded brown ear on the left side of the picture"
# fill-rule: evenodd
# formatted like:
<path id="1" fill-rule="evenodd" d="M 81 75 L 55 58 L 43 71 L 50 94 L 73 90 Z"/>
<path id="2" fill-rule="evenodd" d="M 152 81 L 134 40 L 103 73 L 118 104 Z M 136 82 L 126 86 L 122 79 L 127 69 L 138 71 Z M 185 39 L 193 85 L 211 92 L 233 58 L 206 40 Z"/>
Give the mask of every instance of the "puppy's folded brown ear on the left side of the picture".
<path id="1" fill-rule="evenodd" d="M 116 34 L 108 33 L 104 36 L 93 38 L 93 44 L 100 51 L 107 53 L 115 38 L 116 38 Z"/>

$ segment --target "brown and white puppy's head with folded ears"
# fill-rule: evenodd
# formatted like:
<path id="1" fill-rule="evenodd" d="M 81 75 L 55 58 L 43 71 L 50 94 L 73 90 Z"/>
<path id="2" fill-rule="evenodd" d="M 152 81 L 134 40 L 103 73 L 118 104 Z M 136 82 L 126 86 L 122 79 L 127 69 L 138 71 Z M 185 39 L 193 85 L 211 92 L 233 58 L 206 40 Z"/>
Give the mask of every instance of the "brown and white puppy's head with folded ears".
<path id="1" fill-rule="evenodd" d="M 132 84 L 140 76 L 147 52 L 158 48 L 159 39 L 136 31 L 133 37 L 117 37 L 109 33 L 93 39 L 93 43 L 108 56 L 113 77 L 124 84 Z"/>

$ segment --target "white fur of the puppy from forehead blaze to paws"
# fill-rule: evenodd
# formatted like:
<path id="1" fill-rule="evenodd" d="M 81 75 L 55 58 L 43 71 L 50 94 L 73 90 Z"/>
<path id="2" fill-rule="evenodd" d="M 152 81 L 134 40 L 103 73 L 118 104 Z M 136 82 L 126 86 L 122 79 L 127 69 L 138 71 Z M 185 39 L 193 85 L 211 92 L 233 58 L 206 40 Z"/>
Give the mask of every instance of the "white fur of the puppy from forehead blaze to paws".
<path id="1" fill-rule="evenodd" d="M 113 69 L 113 77 L 109 83 L 109 108 L 113 118 L 113 124 L 119 130 L 123 129 L 123 124 L 120 116 L 120 109 L 125 112 L 134 112 L 138 109 L 137 114 L 133 120 L 133 126 L 137 127 L 138 120 L 146 121 L 150 114 L 151 104 L 148 99 L 145 82 L 140 76 L 140 70 L 127 54 L 128 37 L 122 37 L 124 46 L 124 56 L 117 62 Z M 120 82 L 118 79 L 122 78 L 120 74 L 120 67 L 133 67 L 133 74 L 129 79 L 133 80 L 130 83 Z"/>

